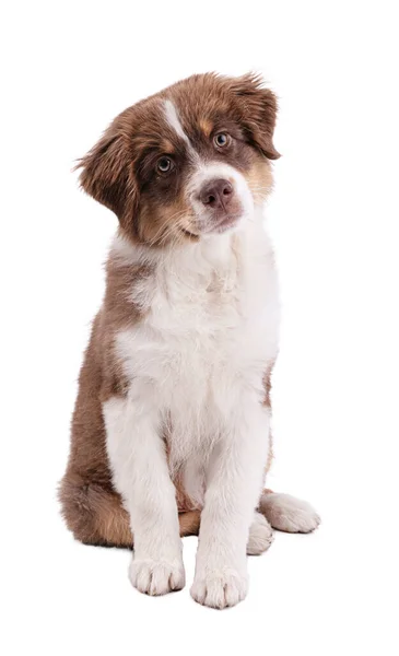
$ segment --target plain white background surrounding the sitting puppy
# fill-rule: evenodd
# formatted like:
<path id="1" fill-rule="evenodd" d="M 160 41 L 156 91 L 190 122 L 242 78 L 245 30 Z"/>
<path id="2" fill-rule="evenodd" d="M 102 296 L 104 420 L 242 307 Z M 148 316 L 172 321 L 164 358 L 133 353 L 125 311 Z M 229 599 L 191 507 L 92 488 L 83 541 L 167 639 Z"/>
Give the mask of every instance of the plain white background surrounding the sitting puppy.
<path id="1" fill-rule="evenodd" d="M 1 16 L 2 653 L 398 653 L 396 2 L 9 2 Z M 283 327 L 268 484 L 310 536 L 249 561 L 218 612 L 150 598 L 130 554 L 66 530 L 56 484 L 115 216 L 73 162 L 112 118 L 193 72 L 262 72 L 280 97 L 268 207 Z M 7 643 L 7 644 L 5 644 Z M 396 643 L 396 644 L 395 644 Z"/>

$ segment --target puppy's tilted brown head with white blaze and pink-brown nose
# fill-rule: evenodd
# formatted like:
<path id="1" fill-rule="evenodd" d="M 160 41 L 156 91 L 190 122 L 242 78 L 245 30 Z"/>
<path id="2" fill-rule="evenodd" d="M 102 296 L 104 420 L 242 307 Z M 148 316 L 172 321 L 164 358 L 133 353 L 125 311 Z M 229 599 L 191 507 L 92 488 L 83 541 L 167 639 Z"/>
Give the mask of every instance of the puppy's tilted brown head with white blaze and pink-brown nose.
<path id="1" fill-rule="evenodd" d="M 134 242 L 223 233 L 270 190 L 275 113 L 255 75 L 192 75 L 122 112 L 80 162 L 81 185 Z"/>

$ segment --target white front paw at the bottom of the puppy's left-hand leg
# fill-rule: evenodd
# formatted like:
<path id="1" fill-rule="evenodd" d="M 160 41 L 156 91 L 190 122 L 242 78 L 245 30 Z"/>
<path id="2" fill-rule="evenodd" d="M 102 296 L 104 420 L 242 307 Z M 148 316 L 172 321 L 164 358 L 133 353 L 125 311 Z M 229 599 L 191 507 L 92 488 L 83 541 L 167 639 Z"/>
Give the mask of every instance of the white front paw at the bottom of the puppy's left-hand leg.
<path id="1" fill-rule="evenodd" d="M 132 560 L 129 567 L 131 584 L 146 595 L 167 595 L 185 587 L 181 562 Z"/>

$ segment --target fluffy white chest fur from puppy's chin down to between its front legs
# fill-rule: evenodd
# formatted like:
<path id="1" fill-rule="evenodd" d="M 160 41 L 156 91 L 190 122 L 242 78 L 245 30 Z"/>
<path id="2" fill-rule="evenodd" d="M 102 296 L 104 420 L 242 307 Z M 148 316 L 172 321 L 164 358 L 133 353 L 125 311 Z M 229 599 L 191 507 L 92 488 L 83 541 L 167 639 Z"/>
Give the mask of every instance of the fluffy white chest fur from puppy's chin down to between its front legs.
<path id="1" fill-rule="evenodd" d="M 172 431 L 173 468 L 207 458 L 243 389 L 263 396 L 278 349 L 277 288 L 270 242 L 254 218 L 242 232 L 165 254 L 132 291 L 149 312 L 118 333 L 117 351 L 131 398 L 156 407 Z"/>

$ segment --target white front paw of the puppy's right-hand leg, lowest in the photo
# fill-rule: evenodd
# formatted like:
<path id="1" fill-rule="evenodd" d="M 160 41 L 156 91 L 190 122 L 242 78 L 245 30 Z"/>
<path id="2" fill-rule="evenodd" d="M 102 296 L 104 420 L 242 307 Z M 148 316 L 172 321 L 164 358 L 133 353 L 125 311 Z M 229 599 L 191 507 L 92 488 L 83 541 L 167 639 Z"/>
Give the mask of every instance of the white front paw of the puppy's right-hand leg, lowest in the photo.
<path id="1" fill-rule="evenodd" d="M 242 601 L 248 591 L 248 577 L 237 572 L 208 572 L 196 576 L 191 586 L 191 597 L 202 606 L 227 608 Z"/>

